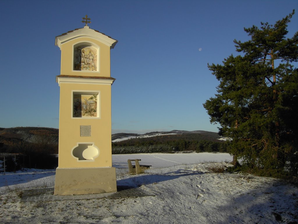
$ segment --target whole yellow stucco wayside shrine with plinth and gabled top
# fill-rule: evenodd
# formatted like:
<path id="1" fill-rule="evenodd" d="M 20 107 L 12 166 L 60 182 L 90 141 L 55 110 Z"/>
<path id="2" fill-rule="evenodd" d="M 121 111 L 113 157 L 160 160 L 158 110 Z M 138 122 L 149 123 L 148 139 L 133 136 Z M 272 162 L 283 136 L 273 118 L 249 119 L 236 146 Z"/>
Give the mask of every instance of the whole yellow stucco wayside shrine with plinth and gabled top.
<path id="1" fill-rule="evenodd" d="M 117 191 L 111 152 L 110 49 L 116 40 L 85 26 L 57 36 L 61 50 L 58 195 Z"/>

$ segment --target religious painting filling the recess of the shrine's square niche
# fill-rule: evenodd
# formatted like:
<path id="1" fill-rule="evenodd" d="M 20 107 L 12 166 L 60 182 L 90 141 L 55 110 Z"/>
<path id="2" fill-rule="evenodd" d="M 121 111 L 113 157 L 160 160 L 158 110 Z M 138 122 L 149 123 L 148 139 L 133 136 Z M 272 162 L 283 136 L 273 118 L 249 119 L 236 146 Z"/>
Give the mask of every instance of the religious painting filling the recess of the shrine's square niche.
<path id="1" fill-rule="evenodd" d="M 97 95 L 74 94 L 73 117 L 98 117 Z"/>

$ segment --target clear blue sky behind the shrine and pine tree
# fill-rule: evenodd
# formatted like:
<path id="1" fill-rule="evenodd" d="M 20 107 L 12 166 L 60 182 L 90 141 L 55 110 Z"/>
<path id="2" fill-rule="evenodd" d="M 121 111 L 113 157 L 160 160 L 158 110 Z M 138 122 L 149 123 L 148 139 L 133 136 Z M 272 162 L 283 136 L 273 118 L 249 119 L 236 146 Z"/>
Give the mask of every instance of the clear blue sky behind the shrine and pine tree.
<path id="1" fill-rule="evenodd" d="M 118 40 L 111 50 L 112 133 L 218 131 L 203 103 L 220 64 L 243 27 L 274 24 L 295 9 L 288 36 L 298 30 L 298 1 L 1 1 L 0 127 L 59 127 L 60 49 L 55 36 L 82 28 Z"/>

